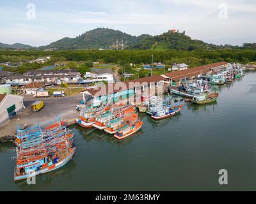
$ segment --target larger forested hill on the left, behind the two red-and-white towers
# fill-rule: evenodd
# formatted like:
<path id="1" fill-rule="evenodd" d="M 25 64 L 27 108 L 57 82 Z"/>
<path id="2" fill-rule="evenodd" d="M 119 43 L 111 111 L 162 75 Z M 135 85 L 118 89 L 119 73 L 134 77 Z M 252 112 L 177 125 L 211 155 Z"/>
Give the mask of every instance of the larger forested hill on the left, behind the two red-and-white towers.
<path id="1" fill-rule="evenodd" d="M 127 49 L 147 38 L 148 34 L 141 36 L 132 36 L 121 31 L 108 28 L 98 28 L 88 31 L 76 38 L 63 38 L 47 46 L 39 47 L 41 50 L 46 48 L 58 48 L 60 50 L 74 49 L 116 49 L 116 39 L 118 40 L 118 48 L 121 49 L 123 38 L 124 48 Z"/>

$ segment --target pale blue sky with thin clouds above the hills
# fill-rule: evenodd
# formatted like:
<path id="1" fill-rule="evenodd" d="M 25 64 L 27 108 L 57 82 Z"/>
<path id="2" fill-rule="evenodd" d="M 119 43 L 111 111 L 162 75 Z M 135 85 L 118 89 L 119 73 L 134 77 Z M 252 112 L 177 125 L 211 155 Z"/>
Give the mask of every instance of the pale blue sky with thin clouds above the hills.
<path id="1" fill-rule="evenodd" d="M 48 45 L 97 27 L 186 31 L 216 45 L 256 42 L 255 0 L 0 0 L 0 42 Z"/>

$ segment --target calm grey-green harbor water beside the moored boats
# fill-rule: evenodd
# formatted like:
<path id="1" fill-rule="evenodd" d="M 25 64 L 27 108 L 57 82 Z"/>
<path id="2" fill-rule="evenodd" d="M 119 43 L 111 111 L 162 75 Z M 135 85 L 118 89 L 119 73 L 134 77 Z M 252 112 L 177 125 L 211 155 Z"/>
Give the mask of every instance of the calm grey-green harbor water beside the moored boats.
<path id="1" fill-rule="evenodd" d="M 70 126 L 76 154 L 60 170 L 13 182 L 14 147 L 0 145 L 1 191 L 255 191 L 256 73 L 219 89 L 210 105 L 184 103 L 179 115 L 117 141 L 104 131 Z M 220 185 L 219 170 L 228 171 Z"/>

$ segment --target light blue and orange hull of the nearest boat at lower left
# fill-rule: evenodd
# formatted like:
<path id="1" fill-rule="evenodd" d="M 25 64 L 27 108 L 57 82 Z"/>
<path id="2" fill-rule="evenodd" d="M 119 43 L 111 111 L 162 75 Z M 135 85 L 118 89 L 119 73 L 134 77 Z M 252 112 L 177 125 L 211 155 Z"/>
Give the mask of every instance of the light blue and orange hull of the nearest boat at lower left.
<path id="1" fill-rule="evenodd" d="M 72 159 L 72 157 L 74 156 L 75 152 L 76 152 L 76 147 L 73 147 L 72 151 L 67 155 L 67 157 L 65 157 L 65 159 L 62 159 L 60 162 L 58 162 L 56 164 L 53 164 L 52 166 L 47 166 L 46 168 L 42 168 L 39 171 L 35 171 L 35 173 L 33 173 L 33 176 L 37 176 L 37 175 L 40 175 L 42 173 L 48 173 L 50 171 L 54 171 L 54 170 L 57 170 L 58 168 L 61 168 L 62 166 L 67 164 L 68 161 L 70 161 Z M 16 168 L 15 168 L 15 170 L 16 170 Z M 15 174 L 15 170 L 14 170 L 14 181 L 28 179 L 29 177 L 32 176 L 30 174 L 16 175 Z"/>

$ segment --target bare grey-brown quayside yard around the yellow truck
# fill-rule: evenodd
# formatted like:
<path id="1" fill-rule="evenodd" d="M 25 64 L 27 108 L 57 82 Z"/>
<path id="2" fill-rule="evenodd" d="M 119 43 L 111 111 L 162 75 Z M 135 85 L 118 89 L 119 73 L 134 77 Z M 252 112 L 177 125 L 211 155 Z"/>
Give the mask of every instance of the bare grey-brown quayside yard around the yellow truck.
<path id="1" fill-rule="evenodd" d="M 35 101 L 42 100 L 45 106 L 40 112 L 32 112 L 31 104 Z M 76 105 L 83 100 L 82 94 L 76 96 L 66 96 L 61 98 L 40 98 L 34 99 L 33 96 L 24 95 L 24 112 L 17 113 L 15 117 L 0 126 L 0 137 L 6 135 L 14 135 L 16 133 L 17 123 L 21 125 L 32 125 L 36 122 L 44 122 L 54 119 L 60 114 L 61 119 L 65 120 L 67 124 L 74 123 L 74 120 L 79 115 L 76 110 Z"/>

